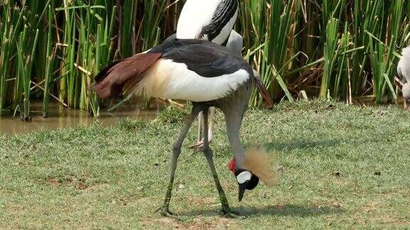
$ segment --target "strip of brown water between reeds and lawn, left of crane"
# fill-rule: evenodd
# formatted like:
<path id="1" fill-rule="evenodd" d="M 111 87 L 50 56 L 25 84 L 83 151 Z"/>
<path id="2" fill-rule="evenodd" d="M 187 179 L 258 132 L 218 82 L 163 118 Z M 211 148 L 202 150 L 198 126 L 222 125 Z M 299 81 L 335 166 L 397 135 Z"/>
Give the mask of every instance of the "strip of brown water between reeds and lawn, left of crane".
<path id="1" fill-rule="evenodd" d="M 41 114 L 41 104 L 31 104 L 31 122 L 21 121 L 19 116 L 16 118 L 4 117 L 0 119 L 0 134 L 20 134 L 30 133 L 41 130 L 56 130 L 61 128 L 88 126 L 98 121 L 102 126 L 113 126 L 122 119 L 154 119 L 159 106 L 153 109 L 144 110 L 139 105 L 126 105 L 115 112 L 102 112 L 99 119 L 95 119 L 85 111 L 75 109 L 65 109 L 58 104 L 51 104 L 49 114 L 44 118 Z"/>

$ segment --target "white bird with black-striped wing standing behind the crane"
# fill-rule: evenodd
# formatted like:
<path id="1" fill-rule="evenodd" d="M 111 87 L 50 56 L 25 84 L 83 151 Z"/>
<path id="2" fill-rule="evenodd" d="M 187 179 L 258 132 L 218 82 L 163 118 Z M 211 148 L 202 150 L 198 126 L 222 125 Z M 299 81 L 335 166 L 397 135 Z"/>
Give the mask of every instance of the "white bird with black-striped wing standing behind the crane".
<path id="1" fill-rule="evenodd" d="M 177 25 L 176 38 L 204 39 L 219 45 L 225 45 L 234 55 L 241 56 L 243 48 L 242 36 L 232 31 L 238 16 L 238 0 L 187 0 L 182 9 Z M 258 89 L 264 90 L 261 82 L 257 82 Z M 268 94 L 264 94 L 268 95 Z M 272 107 L 272 99 L 266 98 L 266 107 Z M 211 108 L 209 123 L 209 141 L 212 140 L 214 108 Z M 201 150 L 202 114 L 199 114 L 198 143 L 192 147 Z"/>

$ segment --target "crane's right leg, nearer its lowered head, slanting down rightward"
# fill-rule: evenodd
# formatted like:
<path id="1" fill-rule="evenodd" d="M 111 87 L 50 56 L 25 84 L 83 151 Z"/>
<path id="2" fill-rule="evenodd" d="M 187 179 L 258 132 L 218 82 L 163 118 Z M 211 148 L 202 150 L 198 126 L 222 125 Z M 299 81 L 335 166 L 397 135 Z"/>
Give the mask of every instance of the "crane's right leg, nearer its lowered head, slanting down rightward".
<path id="1" fill-rule="evenodd" d="M 208 129 L 208 109 L 204 111 L 204 130 Z M 221 186 L 221 182 L 219 182 L 218 173 L 216 172 L 216 168 L 214 165 L 214 159 L 212 158 L 214 153 L 209 147 L 209 140 L 208 140 L 208 132 L 204 132 L 204 153 L 206 160 L 208 161 L 209 168 L 211 169 L 212 176 L 214 177 L 216 189 L 219 193 L 219 199 L 221 200 L 222 205 L 222 212 L 225 215 L 231 214 L 231 209 L 229 209 L 228 199 L 226 199 L 226 195 L 224 189 Z"/>

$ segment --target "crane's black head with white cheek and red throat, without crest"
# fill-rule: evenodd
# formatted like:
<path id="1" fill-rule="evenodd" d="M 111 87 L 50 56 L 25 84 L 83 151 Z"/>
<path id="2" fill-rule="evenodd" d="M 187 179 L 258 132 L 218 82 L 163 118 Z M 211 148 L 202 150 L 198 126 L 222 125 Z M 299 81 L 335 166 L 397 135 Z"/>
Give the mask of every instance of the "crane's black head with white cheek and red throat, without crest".
<path id="1" fill-rule="evenodd" d="M 235 160 L 233 159 L 229 163 L 229 170 L 233 172 L 236 182 L 238 182 L 238 199 L 241 201 L 246 190 L 253 190 L 258 185 L 259 177 L 248 170 L 236 169 Z"/>

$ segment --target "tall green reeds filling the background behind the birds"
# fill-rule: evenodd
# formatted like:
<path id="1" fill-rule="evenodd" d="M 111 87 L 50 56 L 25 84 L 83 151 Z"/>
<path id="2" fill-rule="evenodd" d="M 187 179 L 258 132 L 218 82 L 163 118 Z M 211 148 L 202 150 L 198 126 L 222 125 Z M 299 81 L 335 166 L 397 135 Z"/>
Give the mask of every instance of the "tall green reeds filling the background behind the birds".
<path id="1" fill-rule="evenodd" d="M 205 0 L 204 0 L 205 1 Z M 0 0 L 0 116 L 30 102 L 98 116 L 90 84 L 112 60 L 174 33 L 183 0 Z M 395 67 L 407 45 L 410 2 L 240 0 L 243 57 L 275 101 L 309 97 L 394 102 Z M 251 106 L 260 106 L 253 94 Z"/>

